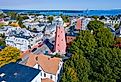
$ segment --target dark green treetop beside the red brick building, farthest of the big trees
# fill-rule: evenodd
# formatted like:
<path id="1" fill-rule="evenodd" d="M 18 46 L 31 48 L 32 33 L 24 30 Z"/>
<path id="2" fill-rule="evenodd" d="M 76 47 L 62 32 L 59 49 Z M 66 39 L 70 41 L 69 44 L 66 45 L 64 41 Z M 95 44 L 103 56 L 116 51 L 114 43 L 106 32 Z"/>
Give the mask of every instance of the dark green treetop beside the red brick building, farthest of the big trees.
<path id="1" fill-rule="evenodd" d="M 87 27 L 89 30 L 96 30 L 98 28 L 103 28 L 104 23 L 101 21 L 94 20 L 94 21 L 90 21 Z"/>

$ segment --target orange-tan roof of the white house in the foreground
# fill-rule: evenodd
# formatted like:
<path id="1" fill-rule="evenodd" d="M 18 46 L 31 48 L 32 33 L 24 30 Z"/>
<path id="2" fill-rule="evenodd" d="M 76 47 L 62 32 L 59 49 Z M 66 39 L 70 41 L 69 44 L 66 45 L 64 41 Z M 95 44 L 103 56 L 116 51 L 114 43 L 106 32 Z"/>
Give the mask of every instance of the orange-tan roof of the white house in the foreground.
<path id="1" fill-rule="evenodd" d="M 37 59 L 37 60 L 36 60 Z M 40 65 L 43 71 L 51 74 L 56 74 L 59 69 L 60 58 L 50 58 L 49 56 L 39 54 L 39 55 L 29 55 L 29 59 L 26 63 L 27 66 L 34 67 L 36 64 Z"/>

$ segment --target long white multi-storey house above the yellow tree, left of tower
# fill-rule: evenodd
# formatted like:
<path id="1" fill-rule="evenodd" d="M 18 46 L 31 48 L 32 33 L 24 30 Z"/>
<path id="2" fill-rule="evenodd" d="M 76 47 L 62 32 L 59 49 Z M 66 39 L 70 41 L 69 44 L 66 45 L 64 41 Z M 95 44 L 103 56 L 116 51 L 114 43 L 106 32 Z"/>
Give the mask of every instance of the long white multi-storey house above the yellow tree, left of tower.
<path id="1" fill-rule="evenodd" d="M 32 48 L 35 44 L 41 42 L 41 38 L 42 37 L 25 37 L 23 36 L 21 37 L 7 37 L 5 39 L 6 45 L 12 46 L 12 47 L 16 47 L 18 49 L 20 49 L 21 51 L 26 51 L 30 48 Z"/>

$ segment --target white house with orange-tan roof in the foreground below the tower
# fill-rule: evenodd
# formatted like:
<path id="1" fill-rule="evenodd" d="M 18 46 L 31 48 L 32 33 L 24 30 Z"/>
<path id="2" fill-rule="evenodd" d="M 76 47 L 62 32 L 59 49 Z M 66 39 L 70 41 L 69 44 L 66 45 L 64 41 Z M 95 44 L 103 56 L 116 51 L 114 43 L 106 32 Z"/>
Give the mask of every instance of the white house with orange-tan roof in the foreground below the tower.
<path id="1" fill-rule="evenodd" d="M 59 82 L 63 62 L 60 58 L 51 58 L 43 54 L 29 55 L 27 66 L 41 70 L 41 79 L 50 79 Z"/>

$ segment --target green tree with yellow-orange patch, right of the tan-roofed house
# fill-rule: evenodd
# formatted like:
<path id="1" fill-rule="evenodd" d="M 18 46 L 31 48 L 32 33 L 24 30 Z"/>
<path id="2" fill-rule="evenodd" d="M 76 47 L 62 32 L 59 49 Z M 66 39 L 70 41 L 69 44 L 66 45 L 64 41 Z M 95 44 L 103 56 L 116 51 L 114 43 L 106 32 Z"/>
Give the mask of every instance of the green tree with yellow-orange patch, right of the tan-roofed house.
<path id="1" fill-rule="evenodd" d="M 90 64 L 80 51 L 65 62 L 61 82 L 89 82 L 89 72 Z"/>

